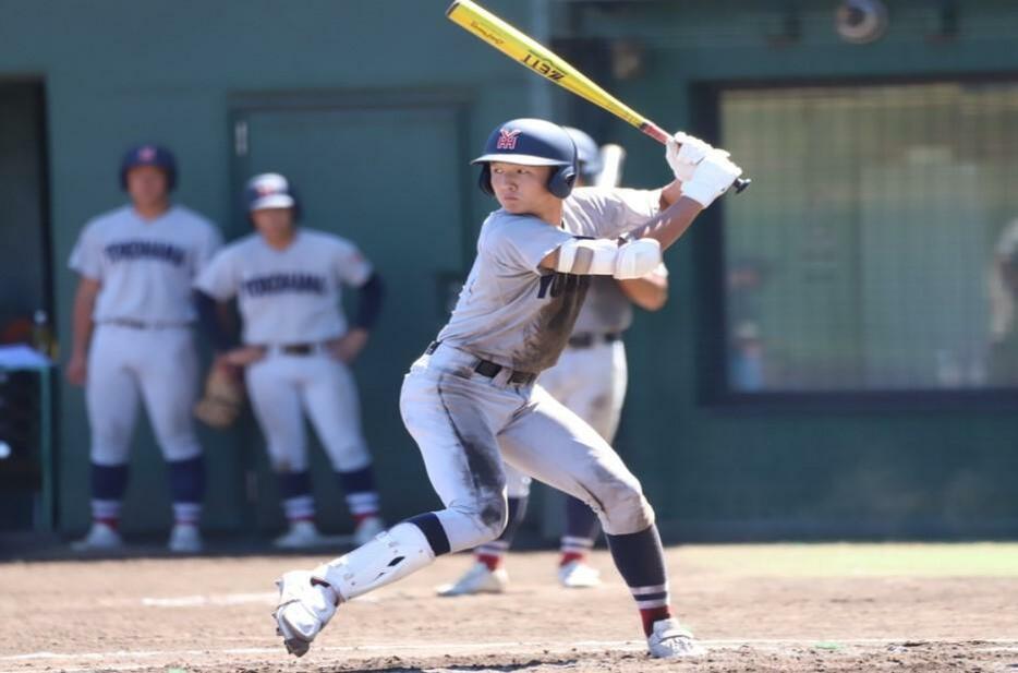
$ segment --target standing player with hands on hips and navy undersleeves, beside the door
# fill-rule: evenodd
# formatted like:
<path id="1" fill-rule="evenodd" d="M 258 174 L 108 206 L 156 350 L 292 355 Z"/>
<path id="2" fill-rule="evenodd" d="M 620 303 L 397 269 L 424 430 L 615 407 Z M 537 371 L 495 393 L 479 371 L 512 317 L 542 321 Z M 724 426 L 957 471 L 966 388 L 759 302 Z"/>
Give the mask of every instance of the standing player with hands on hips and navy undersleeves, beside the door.
<path id="1" fill-rule="evenodd" d="M 283 176 L 252 178 L 245 197 L 257 231 L 219 253 L 195 288 L 204 315 L 215 315 L 214 307 L 207 310 L 213 302 L 238 298 L 242 346 L 231 348 L 214 319 L 203 323 L 220 351 L 219 365 L 245 369 L 289 521 L 275 544 L 304 549 L 325 541 L 314 524 L 304 411 L 346 494 L 354 540 L 362 544 L 383 524 L 349 364 L 380 310 L 381 279 L 350 241 L 295 226 L 300 204 Z M 352 325 L 340 309 L 343 286 L 360 291 Z"/>

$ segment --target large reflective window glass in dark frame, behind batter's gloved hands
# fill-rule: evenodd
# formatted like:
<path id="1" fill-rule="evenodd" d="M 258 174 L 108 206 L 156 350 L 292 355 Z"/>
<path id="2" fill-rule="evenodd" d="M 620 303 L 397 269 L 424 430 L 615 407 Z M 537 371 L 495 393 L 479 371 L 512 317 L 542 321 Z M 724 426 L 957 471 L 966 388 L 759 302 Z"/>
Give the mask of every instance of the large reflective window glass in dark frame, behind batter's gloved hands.
<path id="1" fill-rule="evenodd" d="M 1018 383 L 1018 84 L 729 88 L 728 393 Z"/>

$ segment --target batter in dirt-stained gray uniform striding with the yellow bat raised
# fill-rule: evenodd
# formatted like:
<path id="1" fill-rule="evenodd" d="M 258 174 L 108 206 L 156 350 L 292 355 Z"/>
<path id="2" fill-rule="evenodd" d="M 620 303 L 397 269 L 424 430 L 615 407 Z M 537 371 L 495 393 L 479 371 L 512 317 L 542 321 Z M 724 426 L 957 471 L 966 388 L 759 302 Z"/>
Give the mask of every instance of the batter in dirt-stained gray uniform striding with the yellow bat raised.
<path id="1" fill-rule="evenodd" d="M 517 119 L 495 129 L 475 163 L 482 190 L 501 208 L 481 228 L 449 323 L 414 362 L 400 398 L 445 508 L 312 572 L 283 575 L 275 617 L 290 652 L 305 653 L 343 601 L 501 534 L 506 464 L 597 513 L 653 657 L 703 651 L 671 616 L 661 538 L 640 482 L 593 428 L 535 385 L 566 347 L 591 277 L 651 273 L 661 250 L 741 173 L 727 153 L 677 140 L 667 153 L 677 180 L 662 190 L 572 193 L 577 151 L 561 127 Z"/>

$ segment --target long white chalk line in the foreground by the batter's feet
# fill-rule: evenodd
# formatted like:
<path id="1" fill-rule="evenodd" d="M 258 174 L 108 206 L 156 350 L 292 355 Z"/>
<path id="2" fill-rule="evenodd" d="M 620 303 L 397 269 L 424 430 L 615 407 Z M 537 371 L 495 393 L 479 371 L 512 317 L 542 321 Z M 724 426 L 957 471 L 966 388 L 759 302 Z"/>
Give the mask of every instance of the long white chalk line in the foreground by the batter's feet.
<path id="1" fill-rule="evenodd" d="M 978 651 L 1002 651 L 1018 652 L 1018 638 L 971 638 L 965 640 L 937 640 L 931 638 L 749 638 L 749 639 L 728 639 L 728 640 L 701 640 L 706 648 L 716 649 L 738 649 L 747 646 L 768 646 L 768 647 L 805 647 L 820 649 L 835 649 L 845 647 L 865 647 L 865 646 L 890 646 L 909 644 L 909 648 L 922 645 L 949 645 L 949 644 L 974 644 L 990 645 L 993 647 L 980 648 Z M 577 642 L 546 642 L 546 641 L 505 641 L 505 642 L 415 642 L 415 644 L 395 644 L 387 642 L 380 645 L 353 645 L 353 646 L 315 646 L 316 652 L 335 653 L 356 653 L 356 652 L 386 652 L 393 651 L 423 651 L 440 652 L 444 654 L 457 652 L 475 652 L 477 650 L 496 651 L 502 653 L 530 652 L 534 650 L 548 652 L 572 652 L 581 650 L 584 652 L 594 652 L 605 649 L 616 651 L 639 651 L 646 647 L 642 640 L 580 640 Z M 105 660 L 143 660 L 156 657 L 184 658 L 203 657 L 220 654 L 228 657 L 238 656 L 275 656 L 274 658 L 287 659 L 286 651 L 279 647 L 242 647 L 223 649 L 199 649 L 199 650 L 113 650 L 108 652 L 28 652 L 24 654 L 8 654 L 0 657 L 2 662 L 39 662 L 39 661 L 105 661 Z M 130 670 L 138 668 L 136 664 L 106 665 L 104 668 L 117 668 L 118 670 Z M 78 669 L 62 669 L 63 671 L 76 671 Z M 87 670 L 87 669 L 81 669 Z M 0 671 L 0 673 L 8 673 Z"/>

